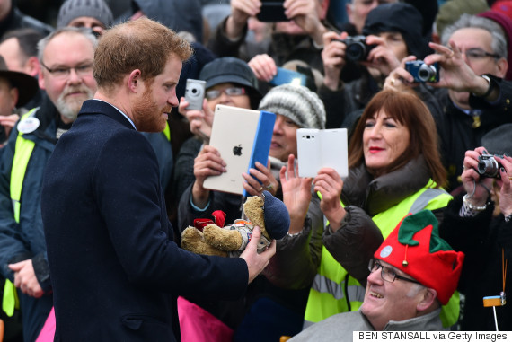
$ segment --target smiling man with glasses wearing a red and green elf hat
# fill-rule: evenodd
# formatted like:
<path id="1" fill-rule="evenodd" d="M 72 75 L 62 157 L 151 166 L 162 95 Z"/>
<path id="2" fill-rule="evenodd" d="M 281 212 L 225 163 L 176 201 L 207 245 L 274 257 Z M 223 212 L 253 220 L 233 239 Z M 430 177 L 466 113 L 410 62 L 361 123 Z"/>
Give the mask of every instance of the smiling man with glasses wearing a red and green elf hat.
<path id="1" fill-rule="evenodd" d="M 454 294 L 464 254 L 439 237 L 429 210 L 406 216 L 375 251 L 359 311 L 343 312 L 291 341 L 352 340 L 352 331 L 443 330 L 441 305 Z"/>

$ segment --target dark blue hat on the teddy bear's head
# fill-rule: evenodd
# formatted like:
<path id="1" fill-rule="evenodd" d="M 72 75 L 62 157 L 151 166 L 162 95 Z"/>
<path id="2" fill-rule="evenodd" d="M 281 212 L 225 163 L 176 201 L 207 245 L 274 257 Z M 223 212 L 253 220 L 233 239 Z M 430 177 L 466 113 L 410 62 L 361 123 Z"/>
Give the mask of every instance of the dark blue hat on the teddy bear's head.
<path id="1" fill-rule="evenodd" d="M 269 191 L 263 191 L 263 218 L 265 228 L 272 239 L 279 240 L 285 236 L 290 228 L 290 215 L 285 204 L 273 197 Z"/>

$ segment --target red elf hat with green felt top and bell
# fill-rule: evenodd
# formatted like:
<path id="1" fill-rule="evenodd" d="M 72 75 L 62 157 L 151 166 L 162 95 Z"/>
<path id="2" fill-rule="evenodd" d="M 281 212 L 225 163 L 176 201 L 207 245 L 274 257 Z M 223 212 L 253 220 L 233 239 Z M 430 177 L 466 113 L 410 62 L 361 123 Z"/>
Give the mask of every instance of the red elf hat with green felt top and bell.
<path id="1" fill-rule="evenodd" d="M 437 218 L 430 210 L 407 215 L 375 251 L 387 262 L 437 291 L 443 305 L 454 294 L 463 268 L 463 252 L 452 250 L 439 237 Z"/>

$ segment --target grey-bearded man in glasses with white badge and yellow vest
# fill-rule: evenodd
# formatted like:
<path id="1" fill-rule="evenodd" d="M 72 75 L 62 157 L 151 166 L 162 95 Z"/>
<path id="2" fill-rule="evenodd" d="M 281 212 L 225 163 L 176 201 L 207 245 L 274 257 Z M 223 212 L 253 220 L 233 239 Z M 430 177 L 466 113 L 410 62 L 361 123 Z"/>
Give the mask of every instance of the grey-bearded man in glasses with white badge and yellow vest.
<path id="1" fill-rule="evenodd" d="M 40 40 L 39 83 L 46 95 L 13 127 L 0 159 L 0 273 L 7 279 L 3 309 L 13 315 L 20 308 L 25 341 L 37 338 L 52 307 L 40 215 L 43 171 L 59 137 L 96 92 L 96 43 L 93 34 L 69 27 Z"/>

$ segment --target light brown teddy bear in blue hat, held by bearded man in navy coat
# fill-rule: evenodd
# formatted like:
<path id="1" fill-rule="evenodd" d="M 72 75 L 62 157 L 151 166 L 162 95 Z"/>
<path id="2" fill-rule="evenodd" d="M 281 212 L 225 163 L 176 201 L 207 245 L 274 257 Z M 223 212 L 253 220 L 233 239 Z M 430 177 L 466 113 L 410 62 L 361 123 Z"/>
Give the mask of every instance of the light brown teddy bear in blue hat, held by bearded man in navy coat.
<path id="1" fill-rule="evenodd" d="M 248 197 L 243 204 L 243 212 L 249 221 L 235 220 L 234 224 L 223 227 L 222 215 L 220 218 L 214 215 L 216 224 L 206 224 L 202 232 L 189 226 L 181 233 L 181 248 L 196 254 L 236 258 L 251 241 L 254 226 L 258 225 L 261 230 L 259 251 L 268 247 L 271 240 L 279 240 L 288 232 L 290 216 L 287 206 L 269 191 L 263 191 L 261 196 Z"/>

